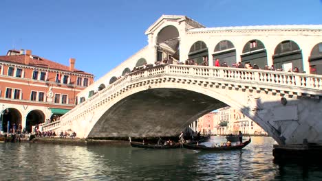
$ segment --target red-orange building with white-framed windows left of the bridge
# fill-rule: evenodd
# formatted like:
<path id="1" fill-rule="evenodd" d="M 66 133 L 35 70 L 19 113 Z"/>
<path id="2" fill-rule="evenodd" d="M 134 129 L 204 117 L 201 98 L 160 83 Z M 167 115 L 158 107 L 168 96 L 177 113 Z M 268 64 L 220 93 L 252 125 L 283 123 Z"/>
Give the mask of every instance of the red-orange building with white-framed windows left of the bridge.
<path id="1" fill-rule="evenodd" d="M 53 121 L 79 102 L 77 94 L 94 82 L 94 75 L 32 55 L 9 50 L 0 56 L 0 128 L 25 128 Z M 1 123 L 2 122 L 2 123 Z"/>

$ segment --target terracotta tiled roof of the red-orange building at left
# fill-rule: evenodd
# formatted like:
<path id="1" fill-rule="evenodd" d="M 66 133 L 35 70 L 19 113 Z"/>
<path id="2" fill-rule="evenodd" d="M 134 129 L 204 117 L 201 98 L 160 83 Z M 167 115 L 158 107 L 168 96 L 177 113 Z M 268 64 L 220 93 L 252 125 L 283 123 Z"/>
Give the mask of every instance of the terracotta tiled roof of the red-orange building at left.
<path id="1" fill-rule="evenodd" d="M 32 58 L 35 57 L 35 58 Z M 29 65 L 34 67 L 44 67 L 49 69 L 56 69 L 59 71 L 69 71 L 69 67 L 64 64 L 58 64 L 57 62 L 53 62 L 51 60 L 47 60 L 45 58 L 41 58 L 39 56 L 32 55 L 17 55 L 17 56 L 0 56 L 0 60 L 4 62 L 12 62 L 16 64 L 25 64 L 25 58 L 29 59 Z M 38 59 L 39 58 L 39 59 Z M 74 69 L 74 73 L 81 73 L 86 75 L 93 75 L 92 73 L 86 73 L 84 71 Z"/>

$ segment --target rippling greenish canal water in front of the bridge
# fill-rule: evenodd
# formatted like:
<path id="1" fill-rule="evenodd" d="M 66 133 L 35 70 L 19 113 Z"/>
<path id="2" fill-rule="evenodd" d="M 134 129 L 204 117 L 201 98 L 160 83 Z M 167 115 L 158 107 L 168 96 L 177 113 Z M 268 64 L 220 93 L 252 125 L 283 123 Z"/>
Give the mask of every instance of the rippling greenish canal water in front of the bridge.
<path id="1" fill-rule="evenodd" d="M 205 144 L 223 141 L 212 136 Z M 275 164 L 273 144 L 270 137 L 252 137 L 242 150 L 196 152 L 0 143 L 0 180 L 322 180 L 321 166 Z"/>

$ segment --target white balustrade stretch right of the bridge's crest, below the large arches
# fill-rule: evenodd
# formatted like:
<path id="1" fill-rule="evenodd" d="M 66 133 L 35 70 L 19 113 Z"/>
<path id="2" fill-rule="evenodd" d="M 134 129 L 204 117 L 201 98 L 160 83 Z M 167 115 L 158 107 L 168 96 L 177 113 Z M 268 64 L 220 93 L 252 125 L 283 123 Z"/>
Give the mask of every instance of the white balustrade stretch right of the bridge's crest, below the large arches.
<path id="1" fill-rule="evenodd" d="M 190 75 L 197 77 L 213 77 L 218 79 L 242 82 L 257 82 L 261 84 L 276 84 L 300 88 L 322 88 L 322 75 L 305 73 L 290 73 L 282 71 L 267 71 L 258 69 L 241 69 L 232 67 L 201 67 L 170 64 L 166 73 L 172 75 Z"/>

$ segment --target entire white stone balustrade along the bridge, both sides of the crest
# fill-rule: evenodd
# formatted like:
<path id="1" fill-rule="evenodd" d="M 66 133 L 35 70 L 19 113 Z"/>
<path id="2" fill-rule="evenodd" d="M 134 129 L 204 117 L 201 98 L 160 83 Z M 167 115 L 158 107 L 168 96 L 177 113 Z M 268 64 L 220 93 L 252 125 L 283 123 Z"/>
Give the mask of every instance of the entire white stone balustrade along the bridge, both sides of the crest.
<path id="1" fill-rule="evenodd" d="M 69 121 L 65 121 L 67 117 L 73 117 L 79 112 L 87 111 L 88 106 L 92 106 L 98 101 L 104 99 L 121 86 L 125 86 L 129 81 L 140 80 L 145 77 L 153 77 L 155 75 L 180 75 L 184 77 L 200 77 L 215 78 L 217 80 L 234 81 L 234 82 L 254 82 L 259 84 L 275 84 L 277 86 L 290 86 L 299 88 L 310 88 L 318 90 L 321 93 L 322 75 L 310 75 L 305 73 L 288 73 L 281 71 L 267 71 L 258 69 L 241 69 L 232 67 L 206 67 L 206 66 L 190 66 L 179 64 L 167 64 L 149 69 L 143 69 L 125 75 L 110 84 L 103 90 L 79 104 L 74 109 L 69 110 L 61 117 L 63 123 L 56 126 L 66 125 Z M 51 125 L 43 125 L 43 128 L 50 128 Z"/>

